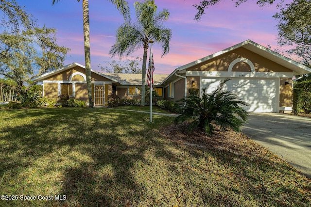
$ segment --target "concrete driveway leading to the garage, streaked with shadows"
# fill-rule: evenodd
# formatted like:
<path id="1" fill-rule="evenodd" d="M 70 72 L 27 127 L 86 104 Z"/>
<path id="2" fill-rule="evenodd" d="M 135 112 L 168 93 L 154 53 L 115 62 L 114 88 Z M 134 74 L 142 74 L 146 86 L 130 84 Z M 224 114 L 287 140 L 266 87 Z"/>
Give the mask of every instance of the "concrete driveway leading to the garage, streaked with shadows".
<path id="1" fill-rule="evenodd" d="M 250 113 L 242 133 L 311 178 L 311 118 Z"/>

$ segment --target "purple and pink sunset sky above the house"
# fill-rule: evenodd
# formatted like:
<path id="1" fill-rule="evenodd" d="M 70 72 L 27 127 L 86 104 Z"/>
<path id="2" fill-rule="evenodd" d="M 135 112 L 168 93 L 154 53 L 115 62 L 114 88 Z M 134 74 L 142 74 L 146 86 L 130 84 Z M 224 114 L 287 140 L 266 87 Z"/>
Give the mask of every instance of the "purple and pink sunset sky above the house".
<path id="1" fill-rule="evenodd" d="M 60 0 L 52 6 L 52 0 L 17 0 L 25 10 L 37 19 L 42 27 L 56 28 L 58 45 L 71 48 L 65 65 L 73 62 L 85 65 L 82 0 Z M 135 21 L 134 0 L 128 0 L 131 21 Z M 260 8 L 248 0 L 235 7 L 235 2 L 223 0 L 208 8 L 199 22 L 193 20 L 196 10 L 192 6 L 199 0 L 155 0 L 158 11 L 167 8 L 170 17 L 165 26 L 172 29 L 170 52 L 160 58 L 161 48 L 153 46 L 155 73 L 169 74 L 176 67 L 223 50 L 247 39 L 262 46 L 276 48 L 276 3 Z M 89 0 L 91 67 L 101 71 L 99 64 L 119 60 L 111 58 L 110 47 L 115 43 L 118 27 L 123 18 L 108 0 Z M 130 55 L 142 58 L 143 48 Z M 149 55 L 148 55 L 149 57 Z M 126 59 L 126 57 L 124 58 Z"/>

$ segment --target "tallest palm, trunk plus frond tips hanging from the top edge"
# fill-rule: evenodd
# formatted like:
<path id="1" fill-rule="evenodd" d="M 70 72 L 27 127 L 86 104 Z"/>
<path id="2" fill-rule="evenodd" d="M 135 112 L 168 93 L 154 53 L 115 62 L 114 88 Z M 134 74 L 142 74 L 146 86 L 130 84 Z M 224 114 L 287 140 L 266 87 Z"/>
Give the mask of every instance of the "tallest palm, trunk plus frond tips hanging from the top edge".
<path id="1" fill-rule="evenodd" d="M 52 5 L 60 0 L 52 0 Z M 78 0 L 80 1 L 80 0 Z M 122 16 L 129 20 L 129 7 L 125 0 L 110 0 L 117 9 L 121 12 Z M 91 52 L 90 52 L 90 40 L 89 40 L 89 13 L 88 13 L 88 0 L 82 0 L 83 7 L 83 33 L 84 33 L 84 53 L 86 62 L 86 85 L 88 95 L 88 107 L 93 108 L 92 99 L 92 77 L 91 77 Z"/>

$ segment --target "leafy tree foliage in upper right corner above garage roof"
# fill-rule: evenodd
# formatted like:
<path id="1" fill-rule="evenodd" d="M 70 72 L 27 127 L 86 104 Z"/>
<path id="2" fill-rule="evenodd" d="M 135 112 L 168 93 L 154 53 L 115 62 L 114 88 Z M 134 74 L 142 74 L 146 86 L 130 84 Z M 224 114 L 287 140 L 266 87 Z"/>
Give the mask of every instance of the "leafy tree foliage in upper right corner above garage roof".
<path id="1" fill-rule="evenodd" d="M 298 58 L 301 64 L 311 66 L 311 1 L 294 0 L 276 13 L 278 44 L 290 46 L 286 54 Z"/>

